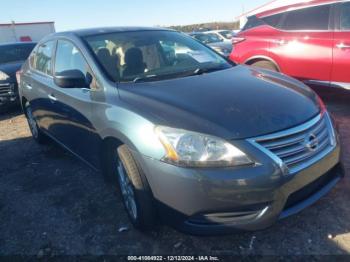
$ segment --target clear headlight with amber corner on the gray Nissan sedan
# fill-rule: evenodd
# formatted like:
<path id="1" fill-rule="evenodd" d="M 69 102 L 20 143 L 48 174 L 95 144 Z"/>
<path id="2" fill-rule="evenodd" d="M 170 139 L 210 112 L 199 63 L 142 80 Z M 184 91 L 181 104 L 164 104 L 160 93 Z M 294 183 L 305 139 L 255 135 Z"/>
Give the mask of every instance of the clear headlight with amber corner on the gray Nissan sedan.
<path id="1" fill-rule="evenodd" d="M 164 146 L 166 162 L 186 167 L 229 167 L 253 162 L 240 149 L 217 137 L 158 126 L 155 132 Z"/>

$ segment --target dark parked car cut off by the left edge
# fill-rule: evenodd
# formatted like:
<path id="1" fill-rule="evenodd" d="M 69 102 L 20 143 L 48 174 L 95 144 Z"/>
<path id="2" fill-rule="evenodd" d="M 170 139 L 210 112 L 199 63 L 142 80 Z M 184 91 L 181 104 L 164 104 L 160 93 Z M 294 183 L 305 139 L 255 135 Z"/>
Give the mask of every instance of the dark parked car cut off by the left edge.
<path id="1" fill-rule="evenodd" d="M 35 43 L 0 45 L 0 106 L 18 102 L 16 72 L 35 47 Z"/>

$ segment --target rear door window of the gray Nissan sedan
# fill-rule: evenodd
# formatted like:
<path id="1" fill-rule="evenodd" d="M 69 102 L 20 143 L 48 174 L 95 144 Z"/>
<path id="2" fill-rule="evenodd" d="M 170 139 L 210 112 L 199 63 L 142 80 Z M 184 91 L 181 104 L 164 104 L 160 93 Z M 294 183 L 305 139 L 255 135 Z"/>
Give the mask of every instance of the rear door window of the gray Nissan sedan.
<path id="1" fill-rule="evenodd" d="M 41 44 L 38 47 L 34 59 L 34 68 L 44 74 L 52 75 L 52 53 L 55 46 L 54 41 Z"/>

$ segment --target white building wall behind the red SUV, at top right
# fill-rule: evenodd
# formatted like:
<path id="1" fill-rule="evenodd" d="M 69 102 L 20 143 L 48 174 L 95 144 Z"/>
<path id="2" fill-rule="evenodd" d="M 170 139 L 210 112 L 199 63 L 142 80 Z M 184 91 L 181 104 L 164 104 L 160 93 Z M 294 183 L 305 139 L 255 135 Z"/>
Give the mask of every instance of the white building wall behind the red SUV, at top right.
<path id="1" fill-rule="evenodd" d="M 279 8 L 282 6 L 287 6 L 287 5 L 293 5 L 297 3 L 302 3 L 302 2 L 310 2 L 310 0 L 273 0 L 269 1 L 264 5 L 261 5 L 257 8 L 254 8 L 253 10 L 250 10 L 248 12 L 244 12 L 240 16 L 236 17 L 236 21 L 239 21 L 240 28 L 242 29 L 243 26 L 246 24 L 248 17 L 259 14 L 268 10 L 272 10 L 275 8 Z"/>

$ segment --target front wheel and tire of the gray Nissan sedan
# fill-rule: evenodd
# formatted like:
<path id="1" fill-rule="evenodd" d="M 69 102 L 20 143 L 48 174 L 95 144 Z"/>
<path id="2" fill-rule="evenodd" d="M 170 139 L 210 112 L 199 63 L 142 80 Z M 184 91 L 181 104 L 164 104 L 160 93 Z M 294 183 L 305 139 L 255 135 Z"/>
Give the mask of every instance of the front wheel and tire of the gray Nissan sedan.
<path id="1" fill-rule="evenodd" d="M 126 145 L 119 146 L 116 151 L 113 164 L 117 167 L 120 195 L 127 214 L 135 228 L 152 229 L 155 205 L 147 179 Z M 133 198 L 134 204 L 128 197 Z"/>

